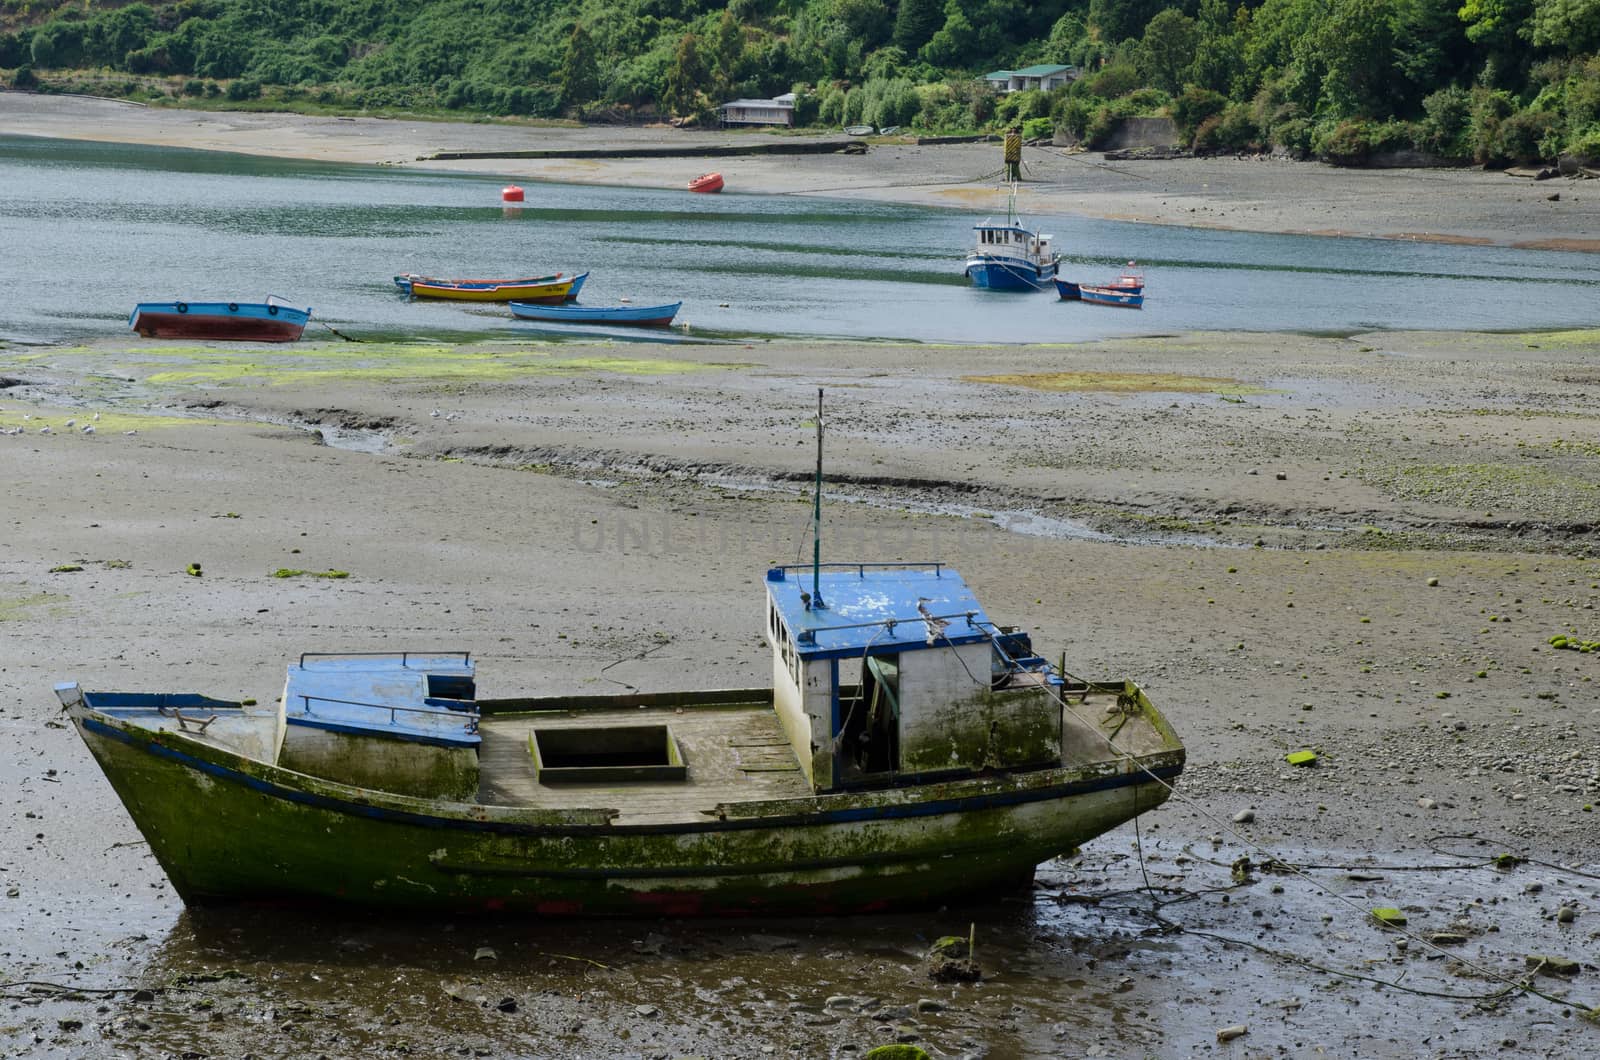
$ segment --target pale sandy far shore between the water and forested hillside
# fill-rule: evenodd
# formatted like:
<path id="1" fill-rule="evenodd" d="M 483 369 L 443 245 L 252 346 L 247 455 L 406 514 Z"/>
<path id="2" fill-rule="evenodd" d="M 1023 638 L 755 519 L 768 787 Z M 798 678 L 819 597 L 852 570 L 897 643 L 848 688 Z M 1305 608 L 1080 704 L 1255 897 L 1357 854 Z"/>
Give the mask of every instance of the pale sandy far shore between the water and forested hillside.
<path id="1" fill-rule="evenodd" d="M 533 128 L 293 114 L 166 110 L 115 101 L 0 93 L 0 133 L 397 165 L 512 179 L 683 187 L 701 159 L 419 162 L 440 151 L 526 151 L 736 143 L 760 133 Z M 731 192 L 832 195 L 990 211 L 995 144 L 874 144 L 864 155 L 717 160 Z M 1026 213 L 1147 224 L 1600 251 L 1600 189 L 1482 170 L 1339 170 L 1270 159 L 1106 162 L 1024 152 Z"/>

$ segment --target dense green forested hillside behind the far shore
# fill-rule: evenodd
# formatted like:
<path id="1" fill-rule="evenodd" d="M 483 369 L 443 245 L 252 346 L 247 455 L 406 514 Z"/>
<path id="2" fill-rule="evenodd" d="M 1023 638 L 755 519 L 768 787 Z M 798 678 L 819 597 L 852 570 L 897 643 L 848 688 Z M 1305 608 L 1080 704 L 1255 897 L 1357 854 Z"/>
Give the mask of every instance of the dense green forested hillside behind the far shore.
<path id="1" fill-rule="evenodd" d="M 803 125 L 1022 123 L 1091 146 L 1170 114 L 1197 151 L 1600 157 L 1600 0 L 0 0 L 0 77 L 216 106 Z M 981 75 L 1070 64 L 1054 93 Z"/>

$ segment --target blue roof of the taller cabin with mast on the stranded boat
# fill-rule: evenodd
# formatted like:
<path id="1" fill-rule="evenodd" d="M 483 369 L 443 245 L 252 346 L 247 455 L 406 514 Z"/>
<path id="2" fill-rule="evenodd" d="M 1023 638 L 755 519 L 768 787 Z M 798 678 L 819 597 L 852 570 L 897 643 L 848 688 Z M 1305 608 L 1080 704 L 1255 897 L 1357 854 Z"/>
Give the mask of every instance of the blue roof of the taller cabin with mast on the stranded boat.
<path id="1" fill-rule="evenodd" d="M 947 567 L 829 564 L 821 588 L 826 607 L 808 608 L 810 567 L 766 572 L 773 608 L 806 660 L 978 644 L 994 631 L 966 581 Z M 939 621 L 930 616 L 942 626 L 933 629 Z"/>

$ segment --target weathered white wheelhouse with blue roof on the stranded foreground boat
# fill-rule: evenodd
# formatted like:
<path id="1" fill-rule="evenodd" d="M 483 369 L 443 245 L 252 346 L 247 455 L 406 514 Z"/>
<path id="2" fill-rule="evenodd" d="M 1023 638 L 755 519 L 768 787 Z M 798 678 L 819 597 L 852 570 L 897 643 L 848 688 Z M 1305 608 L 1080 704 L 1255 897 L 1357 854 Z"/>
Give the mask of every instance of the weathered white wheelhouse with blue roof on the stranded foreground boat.
<path id="1" fill-rule="evenodd" d="M 773 709 L 818 794 L 1061 759 L 1059 677 L 942 565 L 766 573 Z"/>

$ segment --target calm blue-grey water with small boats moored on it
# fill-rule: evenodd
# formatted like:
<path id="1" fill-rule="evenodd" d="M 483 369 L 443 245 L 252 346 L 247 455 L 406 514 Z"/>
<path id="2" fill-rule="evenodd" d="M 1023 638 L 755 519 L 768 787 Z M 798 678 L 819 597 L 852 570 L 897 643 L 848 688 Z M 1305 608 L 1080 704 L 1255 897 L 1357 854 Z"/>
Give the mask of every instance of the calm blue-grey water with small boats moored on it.
<path id="1" fill-rule="evenodd" d="M 1138 259 L 1142 311 L 978 291 L 965 211 L 526 184 L 219 152 L 0 136 L 0 339 L 126 333 L 139 301 L 278 295 L 357 338 L 659 339 L 411 303 L 397 272 L 589 269 L 586 304 L 683 301 L 667 336 L 1069 343 L 1179 330 L 1523 330 L 1600 323 L 1600 256 L 1035 216 L 1062 275 Z M 994 211 L 1005 200 L 995 192 Z M 326 335 L 326 333 L 323 333 Z"/>

